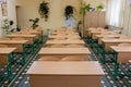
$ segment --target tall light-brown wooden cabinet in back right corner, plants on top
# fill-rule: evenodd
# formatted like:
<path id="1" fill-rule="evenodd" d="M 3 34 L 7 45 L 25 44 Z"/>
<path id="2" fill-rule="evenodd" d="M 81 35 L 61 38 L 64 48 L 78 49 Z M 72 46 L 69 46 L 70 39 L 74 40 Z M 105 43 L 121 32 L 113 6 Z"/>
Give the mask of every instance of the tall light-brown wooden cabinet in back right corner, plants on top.
<path id="1" fill-rule="evenodd" d="M 86 29 L 90 27 L 105 27 L 106 25 L 106 12 L 105 11 L 93 11 L 86 12 L 84 16 L 84 29 L 83 36 L 86 37 Z"/>

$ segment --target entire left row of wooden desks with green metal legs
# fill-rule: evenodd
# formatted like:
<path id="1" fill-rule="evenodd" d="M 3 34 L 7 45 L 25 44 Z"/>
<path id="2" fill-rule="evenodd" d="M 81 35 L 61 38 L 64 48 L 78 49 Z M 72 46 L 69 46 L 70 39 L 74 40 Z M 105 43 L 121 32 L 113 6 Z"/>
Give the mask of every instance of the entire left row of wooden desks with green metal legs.
<path id="1" fill-rule="evenodd" d="M 9 78 L 9 83 L 15 77 L 15 75 L 13 75 L 12 73 L 12 65 L 14 62 L 13 59 L 13 54 L 19 53 L 22 54 L 22 60 L 20 62 L 20 64 L 25 65 L 25 63 L 27 62 L 28 59 L 26 59 L 26 49 L 28 50 L 28 46 L 31 46 L 32 54 L 35 54 L 35 46 L 38 47 L 40 41 L 43 41 L 41 37 L 41 29 L 23 29 L 21 32 L 17 33 L 13 33 L 11 35 L 7 35 L 2 38 L 0 38 L 0 65 L 7 65 L 8 69 L 8 74 L 4 75 L 5 78 Z M 26 34 L 28 33 L 28 34 Z M 39 37 L 37 37 L 39 36 Z M 37 44 L 36 44 L 37 41 Z M 3 45 L 5 45 L 7 47 L 3 47 Z M 21 59 L 21 58 L 20 58 Z M 17 59 L 17 60 L 20 60 Z"/>

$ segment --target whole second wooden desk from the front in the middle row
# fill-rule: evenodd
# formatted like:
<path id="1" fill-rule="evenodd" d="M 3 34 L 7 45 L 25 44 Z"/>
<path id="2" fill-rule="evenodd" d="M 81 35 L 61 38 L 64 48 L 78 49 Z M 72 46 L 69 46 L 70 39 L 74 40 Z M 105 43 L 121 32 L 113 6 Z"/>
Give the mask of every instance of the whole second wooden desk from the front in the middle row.
<path id="1" fill-rule="evenodd" d="M 57 57 L 64 58 L 67 55 L 81 55 L 88 60 L 88 55 L 91 54 L 87 48 L 41 48 L 38 52 L 41 57 Z"/>

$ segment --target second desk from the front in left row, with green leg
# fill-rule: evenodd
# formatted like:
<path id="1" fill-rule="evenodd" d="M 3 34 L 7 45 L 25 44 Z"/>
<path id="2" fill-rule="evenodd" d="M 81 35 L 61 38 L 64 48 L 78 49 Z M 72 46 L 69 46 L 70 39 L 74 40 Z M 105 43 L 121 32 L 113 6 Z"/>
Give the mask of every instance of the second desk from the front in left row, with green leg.
<path id="1" fill-rule="evenodd" d="M 14 52 L 20 52 L 22 53 L 22 64 L 25 64 L 25 44 L 27 40 L 0 40 L 0 44 L 7 45 L 8 47 L 15 47 L 16 49 Z"/>

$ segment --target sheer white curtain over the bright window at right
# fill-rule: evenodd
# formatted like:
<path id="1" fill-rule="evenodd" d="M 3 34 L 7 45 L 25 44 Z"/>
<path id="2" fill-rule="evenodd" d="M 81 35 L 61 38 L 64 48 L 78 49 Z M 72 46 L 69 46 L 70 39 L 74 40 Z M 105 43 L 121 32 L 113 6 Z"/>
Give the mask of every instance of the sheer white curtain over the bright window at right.
<path id="1" fill-rule="evenodd" d="M 108 25 L 121 27 L 123 22 L 124 0 L 108 0 L 107 22 Z"/>

